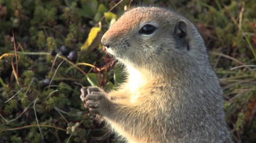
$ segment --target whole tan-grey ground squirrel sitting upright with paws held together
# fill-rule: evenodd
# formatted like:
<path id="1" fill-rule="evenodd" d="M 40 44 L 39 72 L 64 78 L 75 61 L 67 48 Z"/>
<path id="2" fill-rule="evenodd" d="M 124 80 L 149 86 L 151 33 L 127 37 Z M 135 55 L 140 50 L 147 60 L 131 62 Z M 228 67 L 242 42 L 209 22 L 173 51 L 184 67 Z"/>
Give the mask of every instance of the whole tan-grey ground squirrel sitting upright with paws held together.
<path id="1" fill-rule="evenodd" d="M 118 90 L 83 87 L 84 106 L 129 143 L 232 143 L 223 93 L 196 27 L 176 12 L 137 7 L 103 35 L 127 69 Z"/>

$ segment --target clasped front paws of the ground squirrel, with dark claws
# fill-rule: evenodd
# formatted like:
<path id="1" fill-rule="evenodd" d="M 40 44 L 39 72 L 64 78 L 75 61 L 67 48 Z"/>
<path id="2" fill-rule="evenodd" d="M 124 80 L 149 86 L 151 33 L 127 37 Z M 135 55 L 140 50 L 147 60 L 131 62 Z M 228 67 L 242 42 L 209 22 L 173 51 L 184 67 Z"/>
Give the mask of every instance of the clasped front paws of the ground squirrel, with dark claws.
<path id="1" fill-rule="evenodd" d="M 109 101 L 98 87 L 82 87 L 81 96 L 84 107 L 94 114 L 103 114 L 108 109 Z"/>

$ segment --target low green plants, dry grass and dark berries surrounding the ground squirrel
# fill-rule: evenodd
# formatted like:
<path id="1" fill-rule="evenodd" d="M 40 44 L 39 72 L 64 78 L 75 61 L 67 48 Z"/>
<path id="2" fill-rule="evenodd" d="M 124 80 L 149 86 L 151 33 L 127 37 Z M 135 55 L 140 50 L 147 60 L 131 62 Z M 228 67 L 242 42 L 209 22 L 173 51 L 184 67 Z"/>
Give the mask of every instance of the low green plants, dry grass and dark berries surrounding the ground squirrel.
<path id="1" fill-rule="evenodd" d="M 138 4 L 193 21 L 224 90 L 233 140 L 255 143 L 256 0 L 0 0 L 0 143 L 118 142 L 82 106 L 80 88 L 110 90 L 124 79 L 100 39 Z"/>

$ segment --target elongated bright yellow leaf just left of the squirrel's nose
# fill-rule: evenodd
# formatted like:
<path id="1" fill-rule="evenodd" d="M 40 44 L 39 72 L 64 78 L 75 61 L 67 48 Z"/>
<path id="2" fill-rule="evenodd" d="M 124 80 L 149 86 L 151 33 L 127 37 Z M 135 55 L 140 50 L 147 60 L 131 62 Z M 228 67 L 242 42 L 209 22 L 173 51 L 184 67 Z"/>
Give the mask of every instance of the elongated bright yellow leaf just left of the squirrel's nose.
<path id="1" fill-rule="evenodd" d="M 81 51 L 87 50 L 90 47 L 90 45 L 93 43 L 94 39 L 97 37 L 98 32 L 100 32 L 100 31 L 101 31 L 100 27 L 91 28 L 88 38 L 86 39 L 86 41 L 84 42 L 84 44 L 81 47 Z"/>

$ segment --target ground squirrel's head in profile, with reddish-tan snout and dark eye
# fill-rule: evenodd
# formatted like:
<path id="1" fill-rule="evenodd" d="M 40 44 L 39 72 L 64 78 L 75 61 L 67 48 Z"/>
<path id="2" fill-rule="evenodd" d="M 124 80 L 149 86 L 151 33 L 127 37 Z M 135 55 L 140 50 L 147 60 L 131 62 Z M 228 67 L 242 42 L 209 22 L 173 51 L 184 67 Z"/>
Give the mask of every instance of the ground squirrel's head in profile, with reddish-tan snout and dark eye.
<path id="1" fill-rule="evenodd" d="M 154 66 L 157 70 L 186 63 L 176 60 L 207 56 L 204 41 L 189 20 L 157 7 L 137 7 L 125 12 L 101 42 L 122 63 L 143 69 Z"/>

